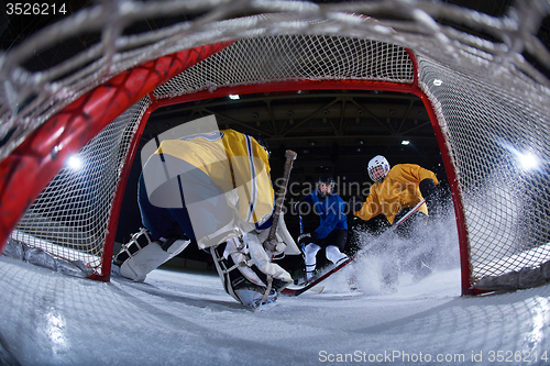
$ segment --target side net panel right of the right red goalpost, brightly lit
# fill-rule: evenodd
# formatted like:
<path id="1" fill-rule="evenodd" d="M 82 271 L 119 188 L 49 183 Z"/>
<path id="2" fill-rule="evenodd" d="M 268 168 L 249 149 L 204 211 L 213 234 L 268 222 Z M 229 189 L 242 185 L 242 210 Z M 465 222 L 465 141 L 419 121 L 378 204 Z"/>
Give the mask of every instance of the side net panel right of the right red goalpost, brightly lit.
<path id="1" fill-rule="evenodd" d="M 518 159 L 534 154 L 548 162 L 548 109 L 508 95 L 510 80 L 418 60 L 460 177 L 472 280 L 549 260 L 548 163 L 529 171 Z M 536 91 L 518 80 L 515 87 Z"/>

